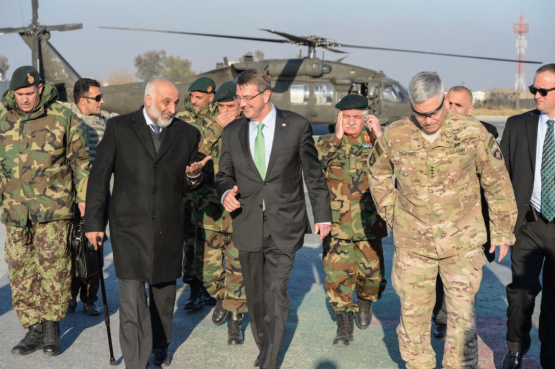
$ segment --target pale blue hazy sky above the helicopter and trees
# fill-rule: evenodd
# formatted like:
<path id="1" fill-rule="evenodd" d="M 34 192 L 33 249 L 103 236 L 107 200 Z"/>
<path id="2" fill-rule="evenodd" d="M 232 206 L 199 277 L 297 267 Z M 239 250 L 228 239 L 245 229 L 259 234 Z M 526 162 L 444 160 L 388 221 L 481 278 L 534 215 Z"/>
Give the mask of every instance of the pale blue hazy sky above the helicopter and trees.
<path id="1" fill-rule="evenodd" d="M 51 34 L 51 43 L 83 77 L 107 79 L 110 70 L 133 74 L 133 59 L 147 50 L 165 49 L 193 62 L 194 70 L 209 70 L 223 57 L 235 60 L 260 49 L 266 58 L 294 58 L 296 46 L 235 41 L 199 36 L 99 29 L 98 26 L 168 29 L 279 38 L 259 28 L 299 36 L 317 35 L 344 44 L 359 44 L 431 52 L 516 58 L 513 23 L 530 24 L 526 59 L 555 62 L 553 0 L 445 1 L 117 1 L 40 0 L 39 22 L 52 26 L 83 23 L 78 31 Z M 0 28 L 27 26 L 31 0 L 0 0 Z M 465 84 L 472 90 L 512 89 L 516 64 L 375 50 L 350 52 L 345 63 L 383 70 L 404 85 L 421 70 L 436 70 L 446 87 Z M 304 49 L 306 54 L 306 48 Z M 31 50 L 17 34 L 0 36 L 0 55 L 11 65 L 8 75 L 31 63 Z M 318 52 L 321 57 L 321 50 Z M 325 53 L 336 60 L 344 54 Z M 534 70 L 528 64 L 526 84 Z"/>

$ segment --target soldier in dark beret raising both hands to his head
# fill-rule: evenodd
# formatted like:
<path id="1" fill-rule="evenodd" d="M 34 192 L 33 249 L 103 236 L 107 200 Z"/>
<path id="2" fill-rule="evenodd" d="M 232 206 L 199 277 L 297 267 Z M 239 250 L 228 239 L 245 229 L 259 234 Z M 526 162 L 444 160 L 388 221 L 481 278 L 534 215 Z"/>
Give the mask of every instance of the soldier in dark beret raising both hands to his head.
<path id="1" fill-rule="evenodd" d="M 371 304 L 386 285 L 381 239 L 387 230 L 370 195 L 366 165 L 382 130 L 380 120 L 368 114 L 364 96 L 346 95 L 335 107 L 335 133 L 321 136 L 316 149 L 331 197 L 331 232 L 322 241 L 322 262 L 327 298 L 337 316 L 333 345 L 347 346 L 353 340 L 354 315 L 357 325 L 367 328 Z"/>

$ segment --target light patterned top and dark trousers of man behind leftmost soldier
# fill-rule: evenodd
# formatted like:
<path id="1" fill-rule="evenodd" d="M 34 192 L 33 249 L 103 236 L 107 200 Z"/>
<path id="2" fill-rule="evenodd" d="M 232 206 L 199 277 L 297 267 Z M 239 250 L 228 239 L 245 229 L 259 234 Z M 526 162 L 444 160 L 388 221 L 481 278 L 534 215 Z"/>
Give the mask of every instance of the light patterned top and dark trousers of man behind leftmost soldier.
<path id="1" fill-rule="evenodd" d="M 97 146 L 106 130 L 106 118 L 102 114 L 83 115 L 77 105 L 72 103 L 72 112 L 77 115 L 80 120 L 81 128 L 84 131 L 84 138 L 87 140 L 90 156 L 90 164 L 93 164 L 95 155 L 97 153 Z M 77 212 L 77 210 L 75 210 Z M 75 221 L 78 223 L 81 219 L 79 214 L 75 214 Z M 72 251 L 72 266 L 75 265 L 75 249 Z M 98 288 L 100 286 L 100 274 L 95 274 L 90 277 L 90 283 L 84 283 L 75 273 L 72 273 L 71 293 L 72 298 L 75 299 L 80 292 L 79 299 L 83 303 L 95 302 L 98 300 Z"/>

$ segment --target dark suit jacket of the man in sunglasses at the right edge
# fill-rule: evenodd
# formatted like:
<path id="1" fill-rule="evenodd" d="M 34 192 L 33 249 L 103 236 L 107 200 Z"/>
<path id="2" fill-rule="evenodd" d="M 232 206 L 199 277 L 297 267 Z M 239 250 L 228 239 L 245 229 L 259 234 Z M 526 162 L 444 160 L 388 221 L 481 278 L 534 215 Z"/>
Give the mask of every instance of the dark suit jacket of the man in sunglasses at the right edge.
<path id="1" fill-rule="evenodd" d="M 538 137 L 539 110 L 532 110 L 507 119 L 501 139 L 501 152 L 511 176 L 514 198 L 517 201 L 517 223 L 514 232 L 521 228 L 524 216 L 532 206 L 534 168 L 536 165 L 536 140 Z"/>

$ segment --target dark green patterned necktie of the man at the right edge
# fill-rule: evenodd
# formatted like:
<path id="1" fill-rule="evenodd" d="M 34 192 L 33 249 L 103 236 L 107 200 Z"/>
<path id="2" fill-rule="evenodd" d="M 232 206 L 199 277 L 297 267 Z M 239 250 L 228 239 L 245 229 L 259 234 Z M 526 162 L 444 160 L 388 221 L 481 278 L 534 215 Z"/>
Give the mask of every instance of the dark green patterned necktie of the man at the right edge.
<path id="1" fill-rule="evenodd" d="M 551 221 L 555 218 L 555 139 L 553 119 L 547 121 L 546 140 L 542 152 L 542 215 Z"/>

